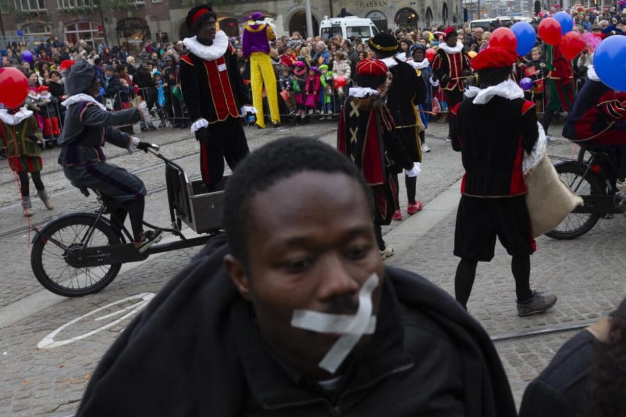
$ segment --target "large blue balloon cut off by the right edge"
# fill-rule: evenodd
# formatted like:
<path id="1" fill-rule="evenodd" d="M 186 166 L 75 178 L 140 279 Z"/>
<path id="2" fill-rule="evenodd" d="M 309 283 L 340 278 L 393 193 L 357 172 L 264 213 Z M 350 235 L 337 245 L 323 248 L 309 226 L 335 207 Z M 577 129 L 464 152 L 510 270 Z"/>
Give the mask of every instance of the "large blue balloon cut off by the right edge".
<path id="1" fill-rule="evenodd" d="M 613 90 L 626 91 L 626 36 L 609 36 L 593 53 L 593 68 Z"/>

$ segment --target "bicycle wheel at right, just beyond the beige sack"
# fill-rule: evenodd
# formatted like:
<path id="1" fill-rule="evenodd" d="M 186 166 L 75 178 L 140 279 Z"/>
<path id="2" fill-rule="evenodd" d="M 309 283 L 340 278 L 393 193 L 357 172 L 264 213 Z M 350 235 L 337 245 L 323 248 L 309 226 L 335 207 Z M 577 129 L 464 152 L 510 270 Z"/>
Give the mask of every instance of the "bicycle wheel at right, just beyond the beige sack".
<path id="1" fill-rule="evenodd" d="M 577 162 L 563 162 L 555 165 L 558 176 L 578 195 L 603 195 L 602 182 L 595 173 L 587 170 L 587 165 Z M 558 240 L 576 239 L 587 233 L 600 219 L 600 214 L 570 213 L 546 236 Z"/>

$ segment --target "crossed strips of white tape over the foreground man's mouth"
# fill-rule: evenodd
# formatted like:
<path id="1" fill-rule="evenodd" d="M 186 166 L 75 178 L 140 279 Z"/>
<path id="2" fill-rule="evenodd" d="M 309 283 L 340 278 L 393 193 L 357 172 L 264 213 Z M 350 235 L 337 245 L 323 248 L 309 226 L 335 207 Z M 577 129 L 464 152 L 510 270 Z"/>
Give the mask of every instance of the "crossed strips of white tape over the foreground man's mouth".
<path id="1" fill-rule="evenodd" d="M 329 314 L 311 310 L 294 310 L 291 325 L 318 333 L 341 333 L 326 353 L 319 367 L 334 374 L 364 334 L 376 329 L 376 316 L 372 316 L 372 292 L 378 286 L 378 275 L 372 274 L 359 291 L 359 309 L 354 316 Z"/>

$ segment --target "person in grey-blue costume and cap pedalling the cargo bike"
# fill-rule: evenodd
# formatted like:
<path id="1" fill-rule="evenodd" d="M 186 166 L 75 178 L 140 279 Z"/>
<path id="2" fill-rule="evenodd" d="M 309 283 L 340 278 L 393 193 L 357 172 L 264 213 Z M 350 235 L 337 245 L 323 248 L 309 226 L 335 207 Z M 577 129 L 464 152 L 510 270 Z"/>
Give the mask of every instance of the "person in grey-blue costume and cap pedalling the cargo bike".
<path id="1" fill-rule="evenodd" d="M 123 224 L 128 213 L 133 230 L 134 244 L 144 252 L 161 238 L 161 230 L 143 230 L 143 209 L 146 187 L 143 182 L 124 168 L 105 162 L 102 147 L 109 142 L 117 147 L 148 152 L 148 142 L 119 131 L 115 126 L 148 120 L 145 101 L 140 107 L 121 111 L 107 111 L 95 97 L 100 93 L 100 83 L 95 67 L 85 61 L 73 64 L 66 78 L 69 97 L 61 104 L 67 108 L 59 164 L 74 187 L 90 187 L 103 196 L 119 203 L 112 220 Z"/>

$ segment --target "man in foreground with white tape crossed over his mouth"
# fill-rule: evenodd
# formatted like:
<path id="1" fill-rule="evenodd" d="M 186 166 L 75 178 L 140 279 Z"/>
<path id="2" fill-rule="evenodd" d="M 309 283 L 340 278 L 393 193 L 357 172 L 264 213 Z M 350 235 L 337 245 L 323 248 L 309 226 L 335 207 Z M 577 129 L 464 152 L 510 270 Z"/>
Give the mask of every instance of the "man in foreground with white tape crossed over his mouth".
<path id="1" fill-rule="evenodd" d="M 76 415 L 515 416 L 486 332 L 383 266 L 372 217 L 326 144 L 251 153 L 227 183 L 225 237 L 120 334 Z"/>

